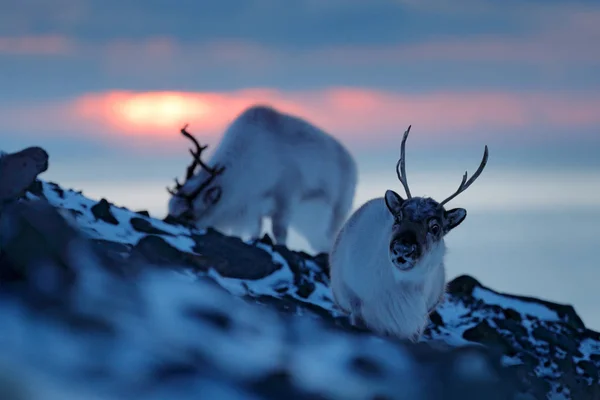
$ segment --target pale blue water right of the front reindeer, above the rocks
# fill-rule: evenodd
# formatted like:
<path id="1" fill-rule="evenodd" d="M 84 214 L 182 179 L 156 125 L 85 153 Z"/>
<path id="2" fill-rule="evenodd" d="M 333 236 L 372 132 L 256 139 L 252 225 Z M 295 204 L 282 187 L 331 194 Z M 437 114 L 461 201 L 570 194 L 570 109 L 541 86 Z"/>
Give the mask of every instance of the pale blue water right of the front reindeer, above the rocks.
<path id="1" fill-rule="evenodd" d="M 572 304 L 600 330 L 600 208 L 471 212 L 447 244 L 450 277 Z"/>

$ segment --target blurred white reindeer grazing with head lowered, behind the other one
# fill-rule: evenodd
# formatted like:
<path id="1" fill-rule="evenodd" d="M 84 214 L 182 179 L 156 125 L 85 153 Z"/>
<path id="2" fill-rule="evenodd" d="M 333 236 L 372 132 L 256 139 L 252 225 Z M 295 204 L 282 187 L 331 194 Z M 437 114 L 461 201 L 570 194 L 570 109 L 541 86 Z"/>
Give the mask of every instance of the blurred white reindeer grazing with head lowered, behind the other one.
<path id="1" fill-rule="evenodd" d="M 263 218 L 270 218 L 278 244 L 286 244 L 293 226 L 313 250 L 329 251 L 350 214 L 357 183 L 355 161 L 336 139 L 261 105 L 231 123 L 208 163 L 201 159 L 207 146 L 186 128 L 181 133 L 196 150 L 190 150 L 186 181 L 176 179 L 175 190 L 167 189 L 167 219 L 258 238 Z"/>

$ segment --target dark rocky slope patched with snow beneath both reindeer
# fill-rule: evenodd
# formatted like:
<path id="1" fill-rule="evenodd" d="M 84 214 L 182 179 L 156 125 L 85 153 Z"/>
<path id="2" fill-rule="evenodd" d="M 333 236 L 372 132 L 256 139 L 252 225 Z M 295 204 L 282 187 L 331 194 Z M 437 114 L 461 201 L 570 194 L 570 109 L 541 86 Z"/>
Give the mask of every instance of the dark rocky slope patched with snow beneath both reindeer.
<path id="1" fill-rule="evenodd" d="M 324 255 L 54 183 L 4 203 L 0 246 L 0 398 L 600 398 L 600 335 L 572 307 L 469 276 L 409 344 L 350 326 Z"/>

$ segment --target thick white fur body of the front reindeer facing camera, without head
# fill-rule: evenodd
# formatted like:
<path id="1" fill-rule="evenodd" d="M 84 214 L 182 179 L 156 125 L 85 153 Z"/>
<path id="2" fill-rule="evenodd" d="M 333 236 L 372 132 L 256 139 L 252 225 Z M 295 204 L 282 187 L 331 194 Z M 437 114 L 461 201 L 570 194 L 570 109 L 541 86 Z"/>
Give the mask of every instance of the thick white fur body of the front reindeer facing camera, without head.
<path id="1" fill-rule="evenodd" d="M 330 254 L 338 306 L 374 331 L 416 340 L 445 291 L 444 240 L 409 271 L 392 264 L 393 217 L 383 197 L 360 207 L 341 229 Z"/>

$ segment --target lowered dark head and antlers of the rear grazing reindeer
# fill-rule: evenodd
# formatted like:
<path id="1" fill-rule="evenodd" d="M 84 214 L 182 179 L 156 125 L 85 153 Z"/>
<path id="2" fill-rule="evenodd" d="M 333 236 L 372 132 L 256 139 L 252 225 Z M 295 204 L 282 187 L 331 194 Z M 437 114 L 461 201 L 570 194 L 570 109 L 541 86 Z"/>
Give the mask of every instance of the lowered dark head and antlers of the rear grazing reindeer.
<path id="1" fill-rule="evenodd" d="M 190 223 L 210 212 L 221 199 L 222 187 L 215 178 L 225 171 L 225 167 L 215 165 L 211 168 L 206 165 L 201 155 L 208 145 L 200 146 L 186 128 L 187 125 L 181 129 L 181 134 L 190 139 L 196 149 L 190 149 L 193 160 L 187 167 L 185 182 L 181 184 L 175 178 L 175 189 L 167 188 L 172 197 L 169 200 L 169 214 L 166 219 Z M 195 174 L 198 166 L 201 170 Z"/>

